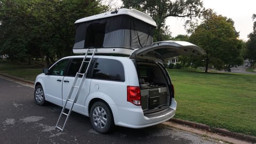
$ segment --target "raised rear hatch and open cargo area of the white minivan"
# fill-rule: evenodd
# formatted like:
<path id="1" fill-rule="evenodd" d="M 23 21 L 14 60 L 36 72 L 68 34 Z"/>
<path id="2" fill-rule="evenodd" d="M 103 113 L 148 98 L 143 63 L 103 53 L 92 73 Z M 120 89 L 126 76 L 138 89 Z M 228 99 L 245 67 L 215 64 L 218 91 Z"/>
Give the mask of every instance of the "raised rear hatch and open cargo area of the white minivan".
<path id="1" fill-rule="evenodd" d="M 170 108 L 174 90 L 171 79 L 163 66 L 152 62 L 178 55 L 205 54 L 201 47 L 182 41 L 156 42 L 134 50 L 130 55 L 136 62 L 141 90 L 141 107 L 145 116 L 152 117 L 173 111 Z M 149 60 L 150 62 L 146 62 Z"/>

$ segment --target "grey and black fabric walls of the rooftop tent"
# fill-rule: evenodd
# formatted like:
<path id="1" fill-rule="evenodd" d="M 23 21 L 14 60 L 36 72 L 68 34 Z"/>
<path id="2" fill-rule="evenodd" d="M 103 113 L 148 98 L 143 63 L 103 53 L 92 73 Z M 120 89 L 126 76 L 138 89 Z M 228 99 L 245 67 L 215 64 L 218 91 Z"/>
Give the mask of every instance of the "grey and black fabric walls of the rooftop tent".
<path id="1" fill-rule="evenodd" d="M 153 43 L 152 26 L 130 15 L 76 23 L 73 49 L 90 47 L 137 49 Z"/>

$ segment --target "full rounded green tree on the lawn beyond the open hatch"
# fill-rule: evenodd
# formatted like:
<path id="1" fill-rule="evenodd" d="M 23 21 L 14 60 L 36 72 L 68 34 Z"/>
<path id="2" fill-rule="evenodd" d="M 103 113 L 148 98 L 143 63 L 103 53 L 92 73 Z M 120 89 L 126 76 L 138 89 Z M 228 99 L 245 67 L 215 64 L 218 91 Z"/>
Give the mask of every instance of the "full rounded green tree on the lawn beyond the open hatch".
<path id="1" fill-rule="evenodd" d="M 209 65 L 217 69 L 230 71 L 233 66 L 243 63 L 242 43 L 238 40 L 239 33 L 234 27 L 234 21 L 215 14 L 212 10 L 205 11 L 204 21 L 197 26 L 189 41 L 202 47 L 206 54 L 201 57 L 190 56 L 183 59 L 193 67 L 204 66 L 205 72 Z"/>

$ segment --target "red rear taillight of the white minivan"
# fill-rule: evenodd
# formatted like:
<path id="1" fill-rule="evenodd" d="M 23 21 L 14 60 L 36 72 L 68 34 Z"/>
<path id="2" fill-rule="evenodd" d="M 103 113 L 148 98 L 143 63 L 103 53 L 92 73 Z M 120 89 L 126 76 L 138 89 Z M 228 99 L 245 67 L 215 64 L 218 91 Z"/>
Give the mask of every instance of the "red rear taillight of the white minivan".
<path id="1" fill-rule="evenodd" d="M 127 86 L 127 101 L 130 101 L 137 106 L 141 105 L 139 86 Z"/>

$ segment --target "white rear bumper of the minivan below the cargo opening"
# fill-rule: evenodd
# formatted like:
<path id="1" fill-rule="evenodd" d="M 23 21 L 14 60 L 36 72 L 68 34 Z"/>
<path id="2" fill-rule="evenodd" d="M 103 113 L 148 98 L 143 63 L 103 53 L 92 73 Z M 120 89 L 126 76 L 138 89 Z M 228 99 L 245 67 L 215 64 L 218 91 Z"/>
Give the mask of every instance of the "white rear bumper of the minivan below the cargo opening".
<path id="1" fill-rule="evenodd" d="M 119 107 L 118 114 L 114 114 L 115 124 L 135 129 L 153 126 L 171 119 L 175 115 L 176 106 L 177 102 L 172 99 L 172 105 L 169 108 L 146 115 L 138 106 L 136 108 Z"/>

